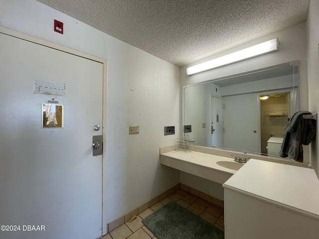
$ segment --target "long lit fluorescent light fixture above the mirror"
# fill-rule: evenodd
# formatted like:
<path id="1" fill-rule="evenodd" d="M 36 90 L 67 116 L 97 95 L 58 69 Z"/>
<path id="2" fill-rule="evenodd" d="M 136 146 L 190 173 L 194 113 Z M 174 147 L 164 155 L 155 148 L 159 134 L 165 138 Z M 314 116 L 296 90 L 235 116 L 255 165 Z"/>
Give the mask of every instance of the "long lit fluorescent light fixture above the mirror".
<path id="1" fill-rule="evenodd" d="M 193 75 L 202 71 L 211 70 L 220 66 L 229 65 L 238 61 L 264 55 L 266 53 L 270 53 L 273 51 L 278 51 L 278 46 L 279 46 L 279 40 L 277 37 L 275 39 L 265 41 L 263 43 L 245 48 L 243 50 L 236 51 L 228 55 L 221 56 L 213 60 L 200 63 L 195 66 L 187 67 L 186 74 Z"/>

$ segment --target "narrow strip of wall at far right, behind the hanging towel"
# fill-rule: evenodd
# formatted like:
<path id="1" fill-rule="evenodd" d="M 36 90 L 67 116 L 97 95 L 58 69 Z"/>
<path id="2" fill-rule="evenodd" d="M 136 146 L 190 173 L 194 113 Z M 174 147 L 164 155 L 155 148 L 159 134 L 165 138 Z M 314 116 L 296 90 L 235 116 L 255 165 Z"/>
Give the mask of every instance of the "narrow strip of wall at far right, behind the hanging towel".
<path id="1" fill-rule="evenodd" d="M 311 0 L 307 20 L 307 59 L 309 84 L 309 111 L 319 112 L 319 1 Z M 318 128 L 317 122 L 317 128 Z M 311 143 L 310 164 L 319 177 L 319 140 Z"/>

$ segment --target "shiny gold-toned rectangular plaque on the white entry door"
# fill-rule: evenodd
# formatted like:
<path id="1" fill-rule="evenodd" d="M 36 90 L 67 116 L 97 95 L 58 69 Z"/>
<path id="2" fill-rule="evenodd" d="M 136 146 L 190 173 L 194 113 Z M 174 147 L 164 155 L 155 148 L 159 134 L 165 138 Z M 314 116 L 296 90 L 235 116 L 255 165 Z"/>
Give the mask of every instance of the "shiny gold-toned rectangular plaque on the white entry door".
<path id="1" fill-rule="evenodd" d="M 63 106 L 42 104 L 42 128 L 63 128 Z"/>

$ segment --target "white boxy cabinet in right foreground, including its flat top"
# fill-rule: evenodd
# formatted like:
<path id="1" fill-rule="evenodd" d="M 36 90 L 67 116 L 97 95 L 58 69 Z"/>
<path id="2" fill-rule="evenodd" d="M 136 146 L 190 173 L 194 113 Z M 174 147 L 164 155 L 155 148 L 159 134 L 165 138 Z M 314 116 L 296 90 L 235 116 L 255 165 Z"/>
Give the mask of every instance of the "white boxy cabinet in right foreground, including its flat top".
<path id="1" fill-rule="evenodd" d="M 223 187 L 225 239 L 319 239 L 313 169 L 251 159 Z"/>

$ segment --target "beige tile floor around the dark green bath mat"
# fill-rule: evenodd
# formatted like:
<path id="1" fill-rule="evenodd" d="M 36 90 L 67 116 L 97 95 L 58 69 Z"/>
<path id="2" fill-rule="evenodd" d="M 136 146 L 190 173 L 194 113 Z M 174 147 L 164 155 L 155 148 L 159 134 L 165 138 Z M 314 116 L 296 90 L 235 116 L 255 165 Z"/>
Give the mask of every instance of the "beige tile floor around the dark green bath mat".
<path id="1" fill-rule="evenodd" d="M 224 231 L 224 211 L 222 208 L 179 189 L 137 215 L 137 218 L 131 223 L 126 222 L 122 226 L 105 235 L 102 239 L 157 239 L 144 226 L 142 219 L 146 218 L 170 201 L 177 202 L 179 205 L 187 208 L 189 211 L 199 215 L 207 222 Z"/>

